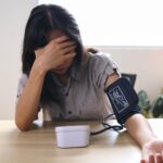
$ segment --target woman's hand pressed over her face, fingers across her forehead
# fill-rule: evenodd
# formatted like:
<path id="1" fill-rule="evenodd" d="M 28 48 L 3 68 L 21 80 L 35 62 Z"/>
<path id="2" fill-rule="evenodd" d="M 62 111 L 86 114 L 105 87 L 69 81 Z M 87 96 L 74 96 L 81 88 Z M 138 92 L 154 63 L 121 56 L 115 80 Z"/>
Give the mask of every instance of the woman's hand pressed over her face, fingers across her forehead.
<path id="1" fill-rule="evenodd" d="M 36 63 L 46 72 L 54 70 L 75 57 L 75 48 L 76 42 L 70 40 L 67 36 L 58 37 L 43 48 L 35 50 Z"/>

